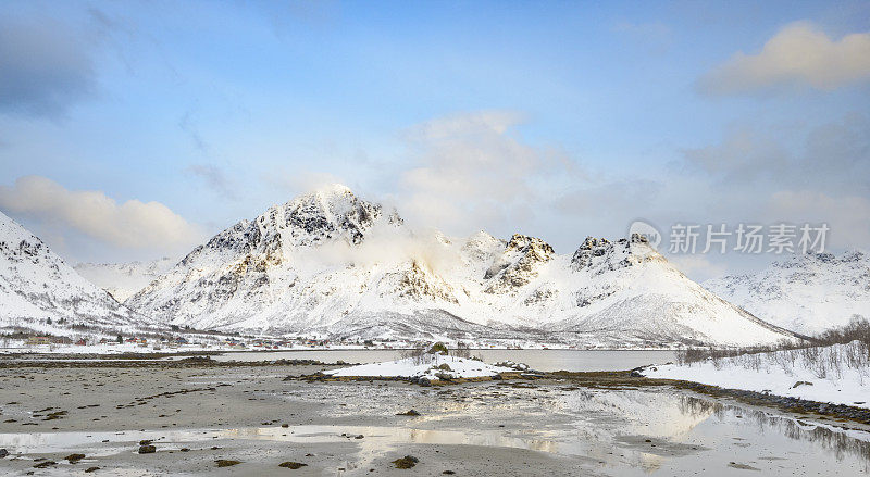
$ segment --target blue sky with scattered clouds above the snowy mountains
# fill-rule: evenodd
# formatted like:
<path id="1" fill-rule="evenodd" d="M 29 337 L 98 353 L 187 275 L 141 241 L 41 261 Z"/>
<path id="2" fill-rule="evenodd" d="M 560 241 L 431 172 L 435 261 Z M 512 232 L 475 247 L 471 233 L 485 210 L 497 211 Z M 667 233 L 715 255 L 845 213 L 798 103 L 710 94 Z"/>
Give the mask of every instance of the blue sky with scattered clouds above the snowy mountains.
<path id="1" fill-rule="evenodd" d="M 0 210 L 71 261 L 181 254 L 330 180 L 562 253 L 635 218 L 825 221 L 834 248 L 870 244 L 870 2 L 3 10 Z M 82 218 L 91 205 L 151 235 Z"/>

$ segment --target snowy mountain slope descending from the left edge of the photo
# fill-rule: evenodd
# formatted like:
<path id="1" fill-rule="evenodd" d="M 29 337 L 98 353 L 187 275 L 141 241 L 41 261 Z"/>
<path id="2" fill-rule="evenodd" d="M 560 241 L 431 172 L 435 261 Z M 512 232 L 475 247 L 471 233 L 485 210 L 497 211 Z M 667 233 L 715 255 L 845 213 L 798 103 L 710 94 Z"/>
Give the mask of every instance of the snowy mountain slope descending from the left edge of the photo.
<path id="1" fill-rule="evenodd" d="M 51 332 L 72 325 L 114 329 L 149 324 L 0 212 L 0 327 Z"/>

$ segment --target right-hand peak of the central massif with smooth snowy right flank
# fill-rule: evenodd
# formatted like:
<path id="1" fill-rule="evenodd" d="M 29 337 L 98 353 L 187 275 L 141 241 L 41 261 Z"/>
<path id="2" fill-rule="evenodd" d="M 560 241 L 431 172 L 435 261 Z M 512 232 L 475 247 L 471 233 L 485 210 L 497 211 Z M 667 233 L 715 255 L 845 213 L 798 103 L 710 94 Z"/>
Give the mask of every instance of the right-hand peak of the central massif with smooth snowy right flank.
<path id="1" fill-rule="evenodd" d="M 646 344 L 771 342 L 783 330 L 705 290 L 671 265 L 641 236 L 609 242 L 588 238 L 571 261 L 575 300 L 552 330 L 581 341 Z"/>

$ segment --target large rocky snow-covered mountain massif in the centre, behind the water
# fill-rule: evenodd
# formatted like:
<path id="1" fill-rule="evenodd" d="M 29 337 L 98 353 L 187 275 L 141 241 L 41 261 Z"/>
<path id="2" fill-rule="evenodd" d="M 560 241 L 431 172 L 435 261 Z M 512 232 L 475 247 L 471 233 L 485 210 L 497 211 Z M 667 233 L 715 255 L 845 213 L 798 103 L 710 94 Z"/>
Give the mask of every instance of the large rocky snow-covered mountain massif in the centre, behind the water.
<path id="1" fill-rule="evenodd" d="M 451 240 L 333 186 L 241 221 L 125 304 L 199 329 L 506 338 L 599 347 L 791 338 L 686 278 L 635 236 L 572 255 L 486 233 Z"/>

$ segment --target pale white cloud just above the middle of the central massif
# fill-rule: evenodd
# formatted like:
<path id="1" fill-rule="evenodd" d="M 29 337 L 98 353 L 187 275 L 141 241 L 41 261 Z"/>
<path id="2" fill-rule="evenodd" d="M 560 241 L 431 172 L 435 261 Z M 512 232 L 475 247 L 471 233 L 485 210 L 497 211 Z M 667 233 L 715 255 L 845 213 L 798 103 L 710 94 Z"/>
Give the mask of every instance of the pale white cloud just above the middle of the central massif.
<path id="1" fill-rule="evenodd" d="M 576 176 L 555 151 L 522 142 L 512 127 L 522 116 L 485 111 L 433 120 L 408 134 L 414 165 L 400 176 L 398 206 L 450 234 L 517 226 L 529 216 L 545 183 Z"/>

